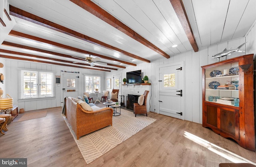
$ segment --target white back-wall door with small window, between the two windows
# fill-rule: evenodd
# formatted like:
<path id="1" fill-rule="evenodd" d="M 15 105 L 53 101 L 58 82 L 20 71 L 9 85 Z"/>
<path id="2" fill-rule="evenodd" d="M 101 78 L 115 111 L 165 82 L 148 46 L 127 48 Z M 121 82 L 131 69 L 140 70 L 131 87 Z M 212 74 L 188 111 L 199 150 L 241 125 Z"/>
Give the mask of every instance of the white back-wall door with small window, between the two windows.
<path id="1" fill-rule="evenodd" d="M 78 74 L 63 74 L 63 98 L 66 96 L 77 97 L 78 96 Z"/>

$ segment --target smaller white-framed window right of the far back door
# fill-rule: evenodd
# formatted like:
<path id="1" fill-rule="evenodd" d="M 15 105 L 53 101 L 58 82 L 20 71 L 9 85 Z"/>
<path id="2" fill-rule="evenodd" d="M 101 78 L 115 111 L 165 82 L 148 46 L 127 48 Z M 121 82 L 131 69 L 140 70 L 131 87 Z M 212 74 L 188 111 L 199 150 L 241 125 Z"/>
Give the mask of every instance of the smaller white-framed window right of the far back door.
<path id="1" fill-rule="evenodd" d="M 100 92 L 100 76 L 85 76 L 84 77 L 84 90 L 89 93 Z"/>

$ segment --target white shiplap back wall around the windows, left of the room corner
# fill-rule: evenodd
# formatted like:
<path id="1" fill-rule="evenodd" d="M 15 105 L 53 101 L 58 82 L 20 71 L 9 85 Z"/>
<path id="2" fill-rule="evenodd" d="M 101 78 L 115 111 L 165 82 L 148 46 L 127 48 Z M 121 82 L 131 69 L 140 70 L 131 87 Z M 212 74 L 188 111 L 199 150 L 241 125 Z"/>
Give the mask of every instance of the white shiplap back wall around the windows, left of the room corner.
<path id="1" fill-rule="evenodd" d="M 56 66 L 50 64 L 42 64 L 42 63 L 35 63 L 35 62 L 27 62 L 27 61 L 16 61 L 10 59 L 0 59 L 0 62 L 4 60 L 5 66 L 5 76 L 6 80 L 4 82 L 4 96 L 6 93 L 12 96 L 13 103 L 18 104 L 18 108 L 24 108 L 25 111 L 31 111 L 35 109 L 44 109 L 44 108 L 51 108 L 51 107 L 59 107 L 62 106 L 62 73 L 61 70 L 64 71 L 75 71 L 80 72 L 79 77 L 81 78 L 78 83 L 78 94 L 82 95 L 84 92 L 84 74 L 95 74 L 102 76 L 101 86 L 104 88 L 105 80 L 104 80 L 104 72 L 95 71 L 95 70 L 86 70 L 81 68 L 70 68 L 64 66 Z M 36 100 L 26 100 L 26 101 L 19 101 L 18 100 L 18 69 L 26 69 L 26 70 L 46 70 L 52 71 L 55 75 L 61 76 L 61 84 L 60 86 L 55 85 L 55 98 L 49 99 L 36 99 Z M 2 70 L 1 70 L 2 71 Z"/>

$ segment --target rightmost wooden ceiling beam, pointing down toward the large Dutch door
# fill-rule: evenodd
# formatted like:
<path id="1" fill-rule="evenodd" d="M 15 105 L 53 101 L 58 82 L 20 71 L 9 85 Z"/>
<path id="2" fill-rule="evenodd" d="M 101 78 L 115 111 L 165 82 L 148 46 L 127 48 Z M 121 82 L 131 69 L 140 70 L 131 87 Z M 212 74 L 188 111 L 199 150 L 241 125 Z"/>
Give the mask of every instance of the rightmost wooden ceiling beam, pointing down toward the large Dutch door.
<path id="1" fill-rule="evenodd" d="M 170 0 L 170 2 L 180 20 L 180 23 L 186 33 L 186 36 L 188 37 L 188 40 L 189 40 L 194 52 L 198 52 L 198 46 L 196 44 L 196 39 L 194 37 L 192 28 L 190 26 L 190 22 L 188 20 L 188 15 L 186 13 L 186 10 L 185 10 L 182 0 Z"/>

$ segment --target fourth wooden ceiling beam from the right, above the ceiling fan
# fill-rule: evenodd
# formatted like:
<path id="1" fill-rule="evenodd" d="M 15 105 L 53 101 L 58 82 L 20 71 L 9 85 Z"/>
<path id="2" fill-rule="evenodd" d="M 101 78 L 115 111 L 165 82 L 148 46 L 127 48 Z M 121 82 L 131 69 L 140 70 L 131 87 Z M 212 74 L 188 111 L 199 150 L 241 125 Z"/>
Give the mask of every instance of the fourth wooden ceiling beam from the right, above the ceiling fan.
<path id="1" fill-rule="evenodd" d="M 98 56 L 100 58 L 104 58 L 104 59 L 107 59 L 107 60 L 113 60 L 113 61 L 117 61 L 117 62 L 120 62 L 120 63 L 123 63 L 123 64 L 136 66 L 136 64 L 134 64 L 134 63 L 125 62 L 125 61 L 122 61 L 122 60 L 110 58 L 110 57 L 103 56 L 103 55 L 100 55 L 100 54 L 95 54 L 95 53 L 92 53 L 92 52 L 88 52 L 86 50 L 74 48 L 72 46 L 67 46 L 67 45 L 60 44 L 60 43 L 57 43 L 57 42 L 53 42 L 53 41 L 50 41 L 50 40 L 45 40 L 43 38 L 39 38 L 39 37 L 36 37 L 36 36 L 31 36 L 31 35 L 24 34 L 22 32 L 17 32 L 17 31 L 14 31 L 14 30 L 11 30 L 9 35 L 15 36 L 15 37 L 18 37 L 18 38 L 23 38 L 23 39 L 26 39 L 26 40 L 31 40 L 31 41 L 34 41 L 34 42 L 40 42 L 40 43 L 43 43 L 45 45 L 54 46 L 54 47 L 62 48 L 62 49 L 65 49 L 65 50 L 71 50 L 71 51 L 79 52 L 79 53 L 82 53 L 82 54 L 89 54 L 89 55 L 93 55 L 93 56 Z"/>

